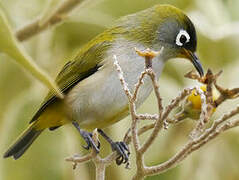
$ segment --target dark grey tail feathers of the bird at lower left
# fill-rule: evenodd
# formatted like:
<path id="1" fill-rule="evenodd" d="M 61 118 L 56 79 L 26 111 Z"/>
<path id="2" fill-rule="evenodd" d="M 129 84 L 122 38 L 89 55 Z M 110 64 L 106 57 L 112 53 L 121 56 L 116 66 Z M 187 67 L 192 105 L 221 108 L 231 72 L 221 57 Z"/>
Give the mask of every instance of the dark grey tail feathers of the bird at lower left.
<path id="1" fill-rule="evenodd" d="M 4 158 L 13 156 L 14 159 L 21 157 L 24 152 L 30 147 L 34 140 L 41 134 L 43 130 L 36 130 L 34 126 L 29 126 L 16 140 L 16 142 L 10 146 L 5 152 Z"/>

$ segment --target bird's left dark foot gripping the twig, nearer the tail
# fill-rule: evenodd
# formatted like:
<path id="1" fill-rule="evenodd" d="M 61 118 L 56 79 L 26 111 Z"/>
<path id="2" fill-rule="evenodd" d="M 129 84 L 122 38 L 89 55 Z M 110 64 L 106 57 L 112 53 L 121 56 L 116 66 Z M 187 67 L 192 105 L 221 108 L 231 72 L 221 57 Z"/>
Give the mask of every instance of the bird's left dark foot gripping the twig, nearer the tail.
<path id="1" fill-rule="evenodd" d="M 84 138 L 84 140 L 87 144 L 86 146 L 83 146 L 85 149 L 89 150 L 90 148 L 92 148 L 95 150 L 96 153 L 100 152 L 100 142 L 98 141 L 98 143 L 96 145 L 96 143 L 92 139 L 92 133 L 81 130 L 80 134 Z"/>

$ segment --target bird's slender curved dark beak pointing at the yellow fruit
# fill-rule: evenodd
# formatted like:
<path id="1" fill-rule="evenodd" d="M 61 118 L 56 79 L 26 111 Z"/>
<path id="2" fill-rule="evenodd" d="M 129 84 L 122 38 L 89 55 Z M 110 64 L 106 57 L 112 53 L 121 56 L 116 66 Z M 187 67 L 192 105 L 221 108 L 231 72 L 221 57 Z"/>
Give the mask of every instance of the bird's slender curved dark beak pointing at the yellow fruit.
<path id="1" fill-rule="evenodd" d="M 185 54 L 184 54 L 185 58 L 189 59 L 192 62 L 192 64 L 194 65 L 194 67 L 196 68 L 200 76 L 202 77 L 204 75 L 204 72 L 197 54 L 187 49 L 184 49 L 184 51 L 185 51 Z"/>

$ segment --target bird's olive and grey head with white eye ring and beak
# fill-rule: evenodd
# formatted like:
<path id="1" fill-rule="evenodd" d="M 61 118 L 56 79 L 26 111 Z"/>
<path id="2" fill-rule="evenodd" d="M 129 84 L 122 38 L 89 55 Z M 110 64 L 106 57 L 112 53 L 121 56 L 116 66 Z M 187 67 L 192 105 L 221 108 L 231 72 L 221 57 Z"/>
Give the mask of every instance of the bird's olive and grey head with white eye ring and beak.
<path id="1" fill-rule="evenodd" d="M 164 47 L 164 59 L 186 58 L 192 62 L 200 76 L 202 65 L 196 55 L 197 36 L 191 20 L 170 5 L 156 5 L 123 19 L 129 38 L 153 50 Z"/>

